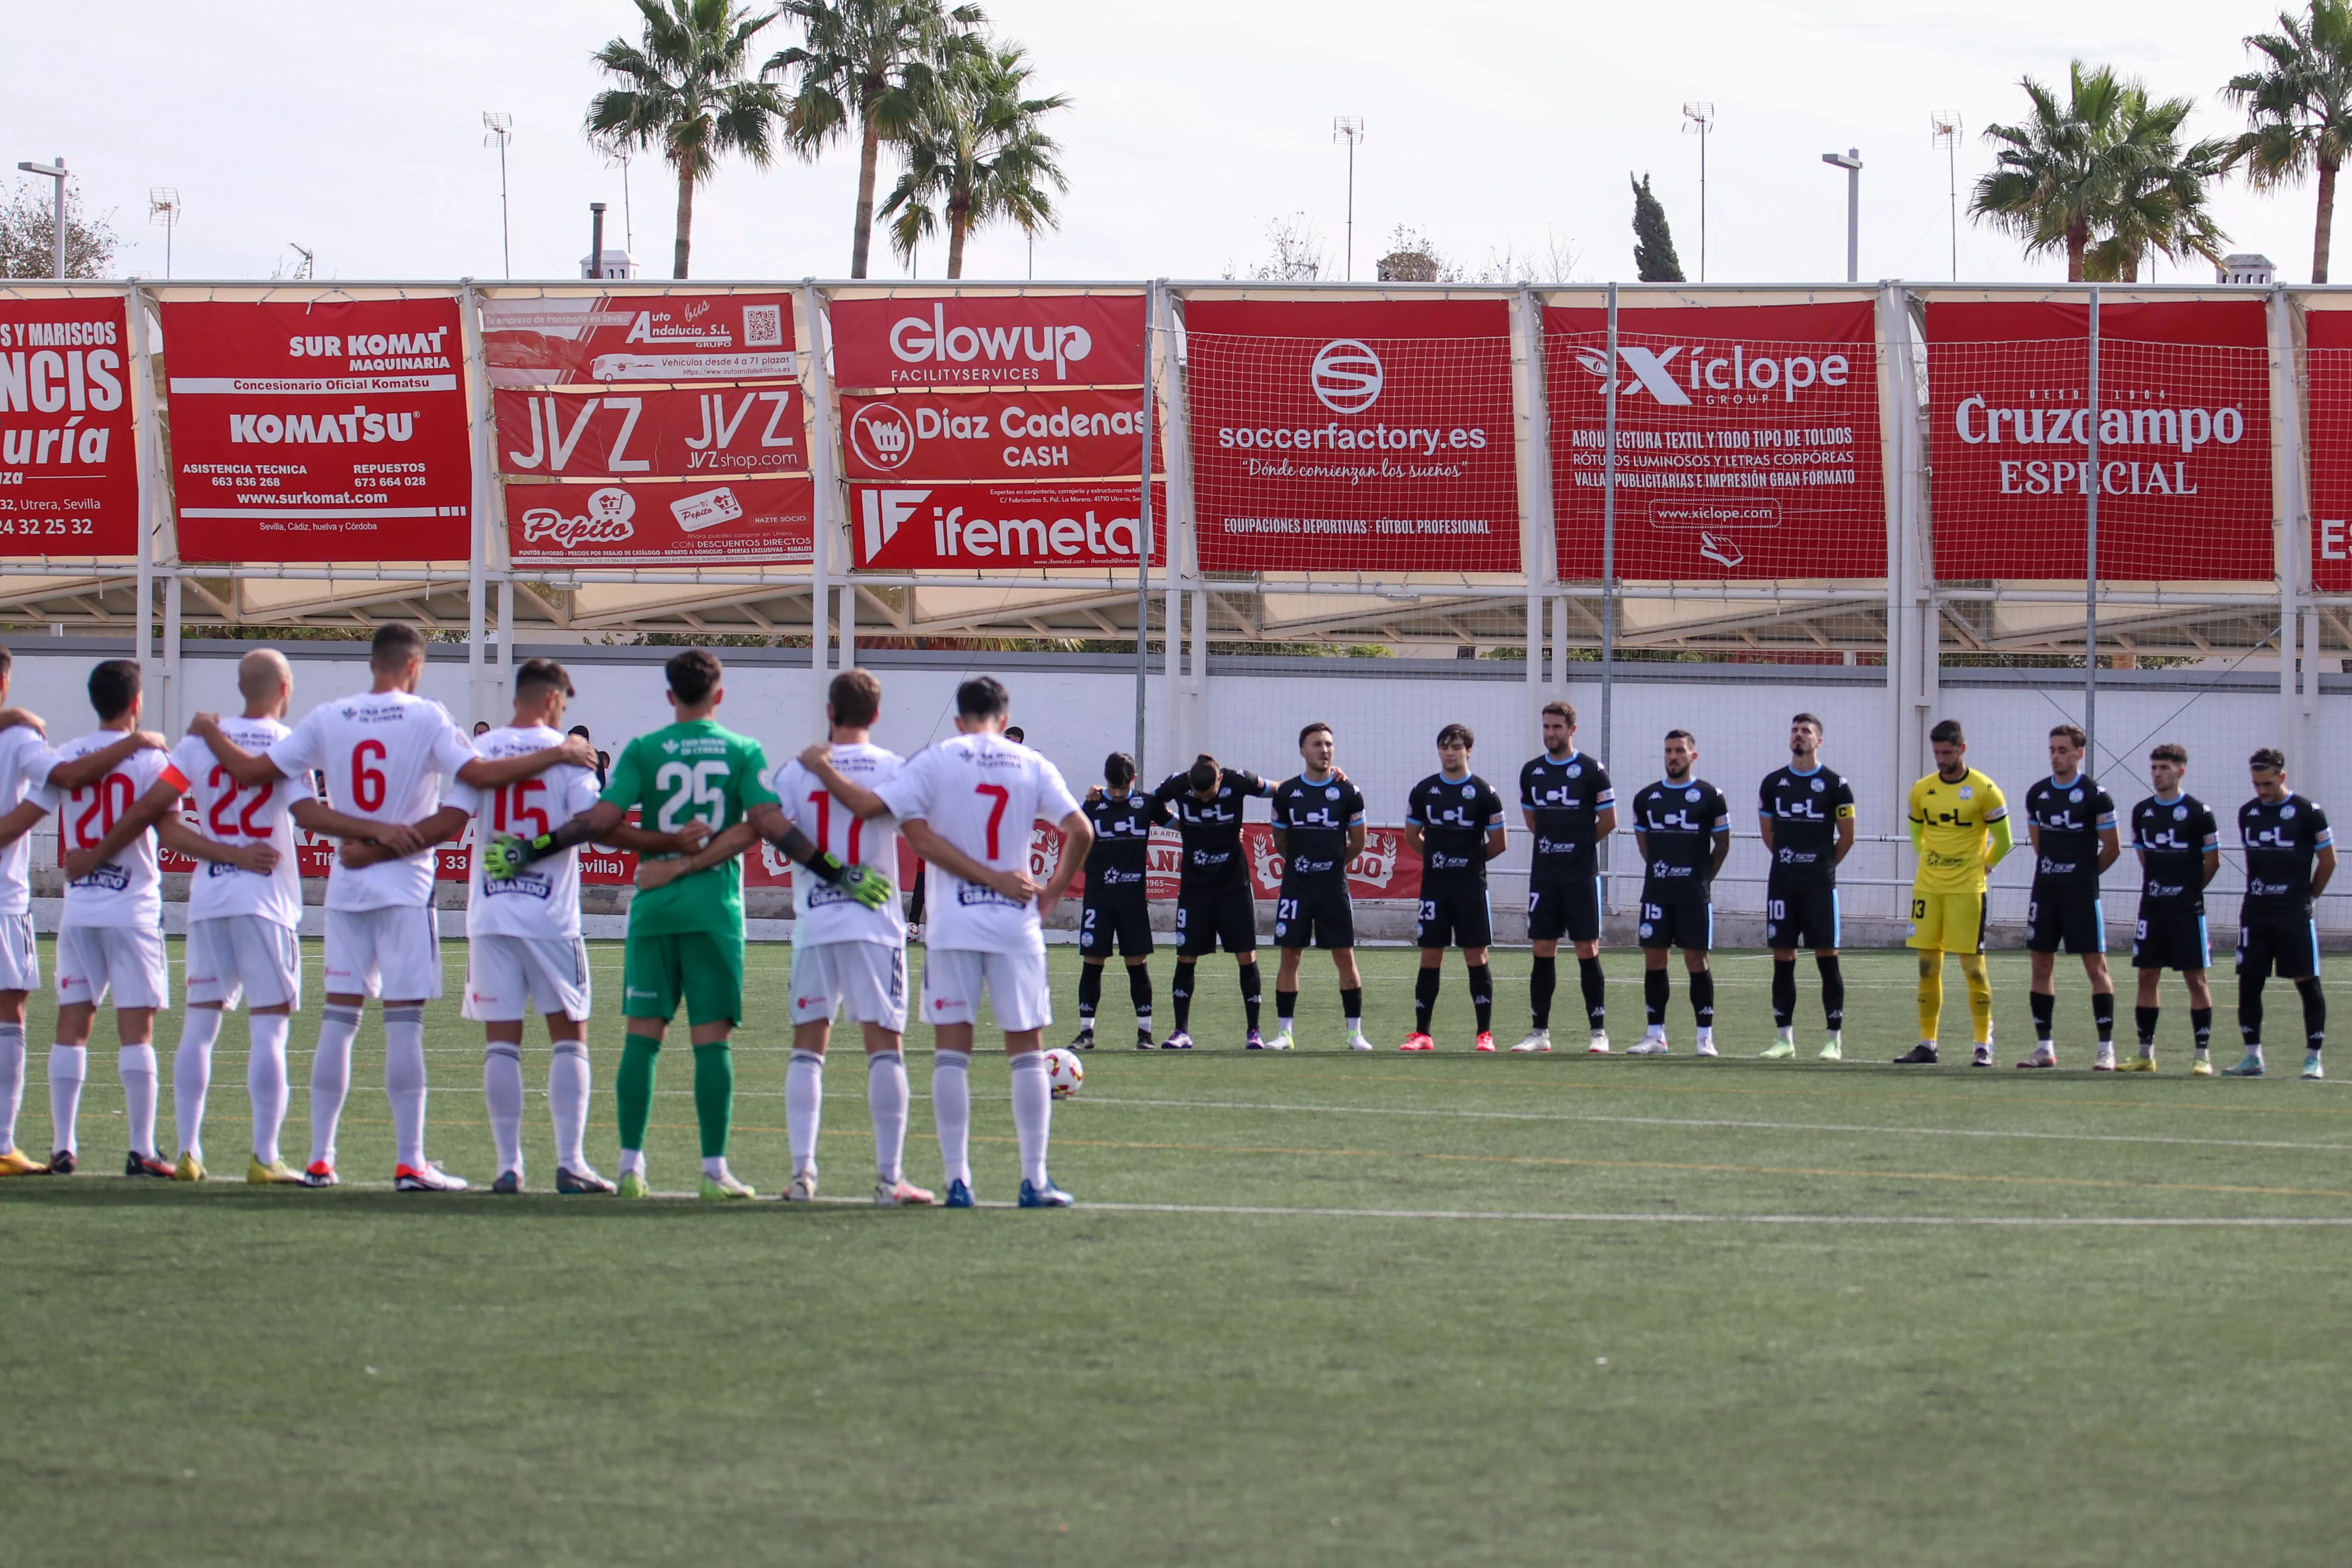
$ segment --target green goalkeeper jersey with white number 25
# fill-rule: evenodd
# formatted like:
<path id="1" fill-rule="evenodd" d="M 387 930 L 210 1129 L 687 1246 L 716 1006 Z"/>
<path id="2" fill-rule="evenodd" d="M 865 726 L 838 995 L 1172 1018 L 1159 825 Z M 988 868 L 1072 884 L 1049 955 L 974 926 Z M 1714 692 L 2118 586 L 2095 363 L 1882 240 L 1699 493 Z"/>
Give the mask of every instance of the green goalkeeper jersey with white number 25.
<path id="1" fill-rule="evenodd" d="M 710 823 L 713 837 L 743 820 L 753 806 L 776 804 L 760 783 L 767 752 L 710 719 L 670 724 L 630 741 L 612 764 L 604 799 L 628 811 L 652 832 L 677 832 L 687 823 Z M 637 889 L 628 905 L 630 933 L 717 931 L 743 938 L 743 858 L 731 856 L 708 870 L 659 889 Z"/>

